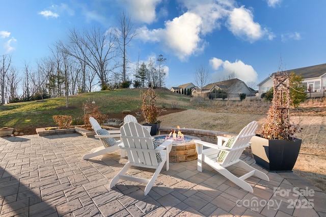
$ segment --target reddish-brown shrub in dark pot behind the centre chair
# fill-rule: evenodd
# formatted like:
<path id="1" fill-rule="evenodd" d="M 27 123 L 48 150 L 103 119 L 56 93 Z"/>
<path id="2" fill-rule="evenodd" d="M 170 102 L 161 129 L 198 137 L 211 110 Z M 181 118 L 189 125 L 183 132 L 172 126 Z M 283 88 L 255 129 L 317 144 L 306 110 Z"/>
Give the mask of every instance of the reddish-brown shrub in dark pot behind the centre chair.
<path id="1" fill-rule="evenodd" d="M 152 136 L 156 135 L 160 127 L 160 121 L 157 120 L 160 111 L 156 106 L 156 98 L 156 92 L 151 87 L 143 94 L 142 114 L 145 118 L 143 125 L 151 126 L 150 134 Z"/>

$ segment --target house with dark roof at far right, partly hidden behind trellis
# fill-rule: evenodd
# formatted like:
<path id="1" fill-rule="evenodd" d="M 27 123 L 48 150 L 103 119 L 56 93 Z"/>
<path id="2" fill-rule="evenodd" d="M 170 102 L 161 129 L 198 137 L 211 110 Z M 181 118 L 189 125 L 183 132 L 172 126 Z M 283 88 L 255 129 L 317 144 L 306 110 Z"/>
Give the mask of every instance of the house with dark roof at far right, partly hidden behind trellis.
<path id="1" fill-rule="evenodd" d="M 287 70 L 303 77 L 303 84 L 307 92 L 321 92 L 326 90 L 326 64 Z M 268 76 L 258 86 L 259 96 L 273 88 L 273 79 Z"/>

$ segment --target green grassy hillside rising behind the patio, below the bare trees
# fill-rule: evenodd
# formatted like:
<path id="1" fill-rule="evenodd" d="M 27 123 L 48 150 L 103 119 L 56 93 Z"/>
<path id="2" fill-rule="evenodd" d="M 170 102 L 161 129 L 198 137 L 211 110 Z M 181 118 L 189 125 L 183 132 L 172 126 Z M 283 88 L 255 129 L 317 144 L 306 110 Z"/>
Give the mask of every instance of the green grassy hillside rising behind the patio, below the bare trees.
<path id="1" fill-rule="evenodd" d="M 137 110 L 142 106 L 142 93 L 147 89 L 119 89 L 88 92 L 65 98 L 46 99 L 0 106 L 0 128 L 10 127 L 15 130 L 36 127 L 56 126 L 53 115 L 71 115 L 73 119 L 84 115 L 83 104 L 94 100 L 102 114 L 121 113 L 123 110 Z M 171 108 L 190 108 L 190 97 L 175 94 L 167 89 L 155 89 L 158 95 L 157 105 Z"/>

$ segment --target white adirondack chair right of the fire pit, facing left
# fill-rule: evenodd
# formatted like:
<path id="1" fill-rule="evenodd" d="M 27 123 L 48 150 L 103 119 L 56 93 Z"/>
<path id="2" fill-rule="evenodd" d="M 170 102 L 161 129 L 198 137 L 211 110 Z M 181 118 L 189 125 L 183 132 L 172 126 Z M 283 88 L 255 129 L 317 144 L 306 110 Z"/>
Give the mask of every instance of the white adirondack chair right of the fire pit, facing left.
<path id="1" fill-rule="evenodd" d="M 255 136 L 257 127 L 257 122 L 253 121 L 249 123 L 249 125 L 244 127 L 239 133 L 239 135 L 237 135 L 235 138 L 230 139 L 227 137 L 218 136 L 217 145 L 200 140 L 195 140 L 196 150 L 198 153 L 198 171 L 202 172 L 202 163 L 205 162 L 214 170 L 218 171 L 230 181 L 234 182 L 240 188 L 253 193 L 253 188 L 248 182 L 244 181 L 245 179 L 253 175 L 266 181 L 269 181 L 269 178 L 265 173 L 249 166 L 247 163 L 244 163 L 239 158 L 242 154 L 243 149 L 251 145 L 250 139 Z M 222 141 L 225 141 L 225 143 L 222 144 Z M 203 146 L 206 146 L 208 148 L 203 149 Z M 229 170 L 226 169 L 231 165 L 240 167 L 248 171 L 248 173 L 240 177 L 235 176 Z"/>

